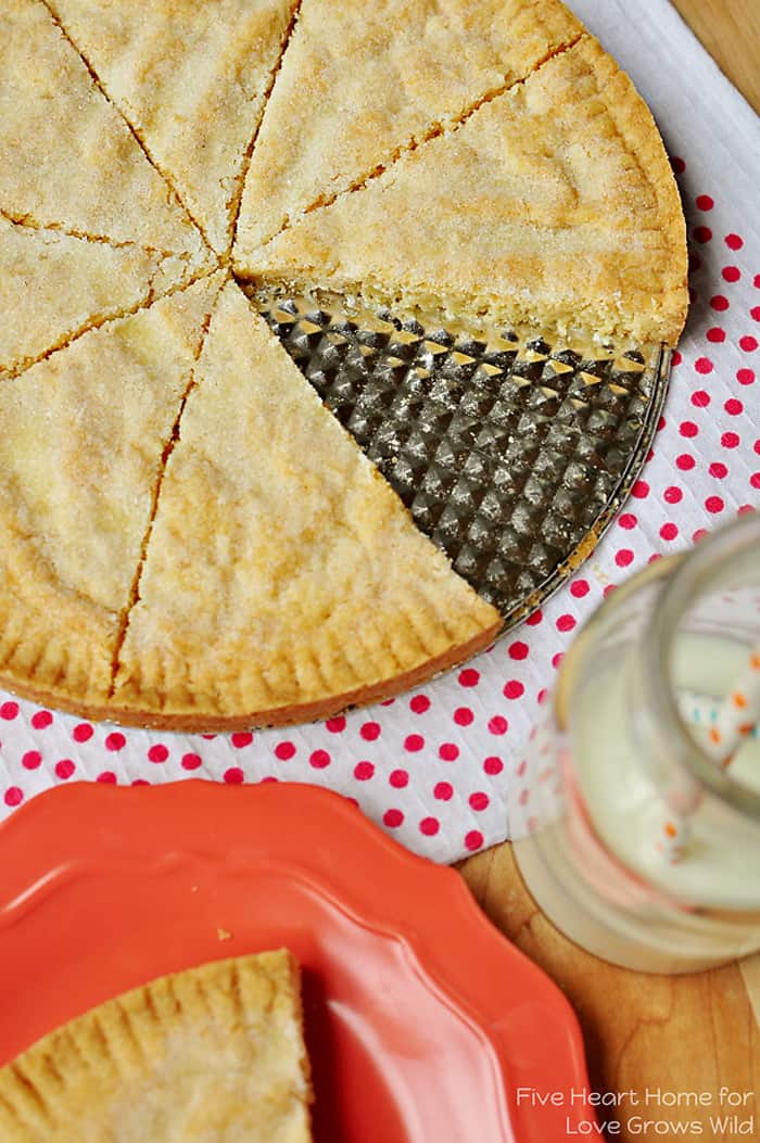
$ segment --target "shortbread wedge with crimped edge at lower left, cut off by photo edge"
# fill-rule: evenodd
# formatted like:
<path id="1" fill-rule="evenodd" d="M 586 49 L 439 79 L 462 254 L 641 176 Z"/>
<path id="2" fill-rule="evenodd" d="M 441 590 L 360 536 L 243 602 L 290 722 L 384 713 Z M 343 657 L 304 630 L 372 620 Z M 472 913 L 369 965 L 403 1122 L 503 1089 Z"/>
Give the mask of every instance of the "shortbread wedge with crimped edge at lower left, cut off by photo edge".
<path id="1" fill-rule="evenodd" d="M 0 381 L 0 685 L 10 690 L 78 710 L 106 701 L 163 450 L 222 278 Z"/>

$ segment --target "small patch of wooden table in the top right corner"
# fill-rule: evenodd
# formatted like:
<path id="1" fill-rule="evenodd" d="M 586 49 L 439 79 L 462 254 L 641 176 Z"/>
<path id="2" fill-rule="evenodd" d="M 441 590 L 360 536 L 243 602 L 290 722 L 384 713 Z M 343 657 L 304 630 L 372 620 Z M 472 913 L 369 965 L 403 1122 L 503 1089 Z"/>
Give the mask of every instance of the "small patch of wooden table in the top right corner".
<path id="1" fill-rule="evenodd" d="M 745 99 L 760 112 L 760 0 L 672 0 Z"/>

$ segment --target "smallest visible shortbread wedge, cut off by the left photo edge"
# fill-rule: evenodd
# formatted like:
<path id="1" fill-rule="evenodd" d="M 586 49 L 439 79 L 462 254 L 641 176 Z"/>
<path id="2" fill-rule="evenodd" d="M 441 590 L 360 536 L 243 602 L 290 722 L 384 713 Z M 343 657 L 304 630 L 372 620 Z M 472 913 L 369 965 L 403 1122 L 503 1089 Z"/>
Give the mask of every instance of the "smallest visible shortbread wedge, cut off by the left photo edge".
<path id="1" fill-rule="evenodd" d="M 18 226 L 0 214 L 0 381 L 190 272 L 181 255 Z"/>

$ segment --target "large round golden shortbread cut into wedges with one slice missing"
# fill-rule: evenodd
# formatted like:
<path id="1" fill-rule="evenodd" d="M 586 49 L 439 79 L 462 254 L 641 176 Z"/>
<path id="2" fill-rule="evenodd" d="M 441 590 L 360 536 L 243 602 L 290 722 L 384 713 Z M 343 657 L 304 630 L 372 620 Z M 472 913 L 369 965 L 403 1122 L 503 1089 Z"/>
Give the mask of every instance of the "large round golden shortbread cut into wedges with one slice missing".
<path id="1" fill-rule="evenodd" d="M 235 285 L 211 318 L 296 11 L 239 270 L 570 336 L 682 326 L 662 142 L 558 0 L 5 0 L 0 682 L 38 701 L 297 721 L 501 626 Z"/>

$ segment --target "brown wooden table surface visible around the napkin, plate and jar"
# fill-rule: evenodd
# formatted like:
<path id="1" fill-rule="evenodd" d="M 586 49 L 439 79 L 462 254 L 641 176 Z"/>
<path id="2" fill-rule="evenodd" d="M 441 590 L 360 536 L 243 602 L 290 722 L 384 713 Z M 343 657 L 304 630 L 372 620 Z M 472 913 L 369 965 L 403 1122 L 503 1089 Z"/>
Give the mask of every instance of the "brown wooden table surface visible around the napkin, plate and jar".
<path id="1" fill-rule="evenodd" d="M 674 2 L 723 72 L 760 111 L 760 0 Z M 701 1134 L 691 1129 L 675 1137 L 699 1137 L 705 1143 L 760 1140 L 760 954 L 742 965 L 689 976 L 645 976 L 614 968 L 550 925 L 525 889 L 509 842 L 469 858 L 459 870 L 490 919 L 568 996 L 583 1029 L 597 1090 L 643 1093 L 659 1087 L 713 1093 L 713 1106 L 645 1110 L 661 1125 L 693 1120 L 703 1125 Z M 744 1110 L 735 1110 L 741 1120 L 754 1116 L 752 1134 L 715 1134 L 710 1117 L 717 1112 L 721 1086 L 747 1093 Z M 641 1111 L 624 1104 L 615 1116 L 625 1125 Z M 669 1137 L 662 1126 L 645 1133 L 634 1128 L 635 1121 L 615 1138 L 654 1143 Z"/>

